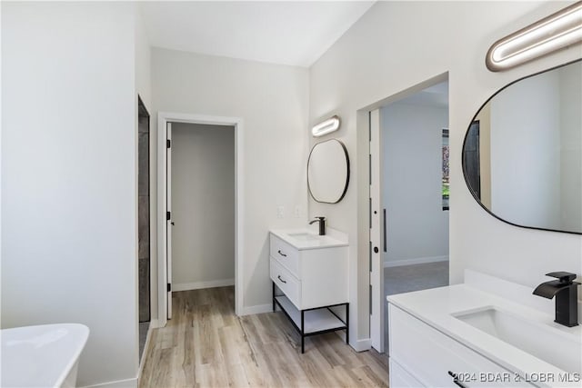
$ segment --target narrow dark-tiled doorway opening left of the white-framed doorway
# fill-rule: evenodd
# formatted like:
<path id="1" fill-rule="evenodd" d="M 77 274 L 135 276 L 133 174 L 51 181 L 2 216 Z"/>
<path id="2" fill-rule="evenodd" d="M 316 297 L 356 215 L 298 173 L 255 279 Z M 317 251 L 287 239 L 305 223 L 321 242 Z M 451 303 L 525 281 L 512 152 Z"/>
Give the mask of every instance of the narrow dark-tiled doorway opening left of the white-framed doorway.
<path id="1" fill-rule="evenodd" d="M 149 113 L 137 97 L 137 241 L 138 241 L 138 305 L 139 362 L 146 345 L 151 320 L 150 289 L 150 193 L 149 193 Z"/>

